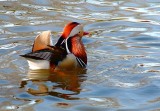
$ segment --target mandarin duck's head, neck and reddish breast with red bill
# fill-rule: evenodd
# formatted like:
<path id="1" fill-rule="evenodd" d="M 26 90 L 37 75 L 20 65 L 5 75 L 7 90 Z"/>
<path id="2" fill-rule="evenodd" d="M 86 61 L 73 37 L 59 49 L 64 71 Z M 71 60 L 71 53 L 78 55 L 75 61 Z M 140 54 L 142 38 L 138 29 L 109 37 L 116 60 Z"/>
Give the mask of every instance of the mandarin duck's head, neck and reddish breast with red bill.
<path id="1" fill-rule="evenodd" d="M 67 53 L 75 55 L 81 66 L 87 65 L 87 54 L 85 47 L 82 43 L 82 37 L 88 35 L 88 32 L 84 32 L 83 26 L 77 22 L 68 23 L 64 29 L 61 37 L 55 44 L 55 46 L 62 46 L 66 49 Z"/>

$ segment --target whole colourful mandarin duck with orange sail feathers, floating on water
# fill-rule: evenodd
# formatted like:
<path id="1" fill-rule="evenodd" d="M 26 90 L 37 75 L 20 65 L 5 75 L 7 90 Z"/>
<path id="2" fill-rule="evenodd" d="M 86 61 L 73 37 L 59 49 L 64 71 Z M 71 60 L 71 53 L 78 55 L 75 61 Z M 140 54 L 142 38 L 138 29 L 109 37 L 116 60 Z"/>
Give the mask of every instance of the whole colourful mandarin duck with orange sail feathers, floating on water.
<path id="1" fill-rule="evenodd" d="M 58 41 L 53 45 L 51 32 L 38 35 L 32 46 L 32 52 L 21 55 L 27 59 L 29 68 L 37 69 L 75 69 L 85 68 L 87 54 L 82 37 L 88 35 L 77 22 L 68 23 Z"/>

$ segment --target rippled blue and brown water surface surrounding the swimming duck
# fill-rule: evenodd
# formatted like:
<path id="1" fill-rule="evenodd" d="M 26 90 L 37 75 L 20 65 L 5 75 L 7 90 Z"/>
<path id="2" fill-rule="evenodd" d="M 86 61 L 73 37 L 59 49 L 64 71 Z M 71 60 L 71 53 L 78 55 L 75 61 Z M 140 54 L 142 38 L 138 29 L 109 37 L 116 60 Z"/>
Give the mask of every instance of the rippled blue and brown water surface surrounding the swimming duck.
<path id="1" fill-rule="evenodd" d="M 1 111 L 159 111 L 159 0 L 1 0 Z M 88 67 L 29 71 L 19 55 L 69 21 L 84 24 Z"/>

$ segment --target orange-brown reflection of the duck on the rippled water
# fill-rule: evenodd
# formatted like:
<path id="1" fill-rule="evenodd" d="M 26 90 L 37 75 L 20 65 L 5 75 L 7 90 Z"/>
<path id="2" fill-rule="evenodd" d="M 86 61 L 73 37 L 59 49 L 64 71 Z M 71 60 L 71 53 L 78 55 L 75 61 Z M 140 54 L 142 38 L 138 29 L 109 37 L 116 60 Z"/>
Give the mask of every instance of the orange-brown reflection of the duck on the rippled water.
<path id="1" fill-rule="evenodd" d="M 27 92 L 35 96 L 51 95 L 75 100 L 79 99 L 73 96 L 81 92 L 81 84 L 87 78 L 85 74 L 86 69 L 54 73 L 50 73 L 49 70 L 30 70 L 27 79 L 21 81 L 20 88 L 26 87 Z"/>

